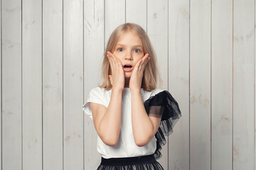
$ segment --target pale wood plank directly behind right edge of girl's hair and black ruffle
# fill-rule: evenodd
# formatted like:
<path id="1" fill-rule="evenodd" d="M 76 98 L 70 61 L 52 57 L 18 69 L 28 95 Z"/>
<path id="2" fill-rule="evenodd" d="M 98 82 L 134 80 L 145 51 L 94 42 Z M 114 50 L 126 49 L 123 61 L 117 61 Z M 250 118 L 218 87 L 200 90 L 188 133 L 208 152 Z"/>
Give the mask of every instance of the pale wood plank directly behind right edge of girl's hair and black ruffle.
<path id="1" fill-rule="evenodd" d="M 156 52 L 157 64 L 163 80 L 163 86 L 158 88 L 168 90 L 168 1 L 147 2 L 147 33 Z M 162 157 L 158 161 L 164 169 L 168 169 L 168 140 L 161 149 L 161 154 Z"/>

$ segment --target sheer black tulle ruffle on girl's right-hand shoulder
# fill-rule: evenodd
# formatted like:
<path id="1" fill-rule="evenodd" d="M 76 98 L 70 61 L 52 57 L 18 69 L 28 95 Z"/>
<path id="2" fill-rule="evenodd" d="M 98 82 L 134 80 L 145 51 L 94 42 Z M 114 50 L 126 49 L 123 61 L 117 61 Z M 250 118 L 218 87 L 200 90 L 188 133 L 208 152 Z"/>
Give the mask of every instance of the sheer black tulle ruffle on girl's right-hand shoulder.
<path id="1" fill-rule="evenodd" d="M 171 135 L 174 125 L 181 118 L 181 110 L 177 101 L 171 96 L 169 91 L 161 91 L 159 94 L 151 96 L 144 102 L 146 113 L 148 115 L 161 116 L 159 129 L 156 131 L 156 151 L 154 157 L 161 158 L 162 146 L 166 145 L 166 137 Z M 157 109 L 156 109 L 157 108 Z"/>

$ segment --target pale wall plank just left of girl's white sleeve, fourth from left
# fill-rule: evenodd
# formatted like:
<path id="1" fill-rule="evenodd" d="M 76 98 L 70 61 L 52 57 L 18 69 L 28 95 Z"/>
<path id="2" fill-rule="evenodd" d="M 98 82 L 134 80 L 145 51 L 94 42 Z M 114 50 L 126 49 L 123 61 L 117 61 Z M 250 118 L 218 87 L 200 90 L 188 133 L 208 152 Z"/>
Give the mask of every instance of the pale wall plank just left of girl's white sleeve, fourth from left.
<path id="1" fill-rule="evenodd" d="M 83 169 L 83 1 L 63 1 L 63 168 Z"/>

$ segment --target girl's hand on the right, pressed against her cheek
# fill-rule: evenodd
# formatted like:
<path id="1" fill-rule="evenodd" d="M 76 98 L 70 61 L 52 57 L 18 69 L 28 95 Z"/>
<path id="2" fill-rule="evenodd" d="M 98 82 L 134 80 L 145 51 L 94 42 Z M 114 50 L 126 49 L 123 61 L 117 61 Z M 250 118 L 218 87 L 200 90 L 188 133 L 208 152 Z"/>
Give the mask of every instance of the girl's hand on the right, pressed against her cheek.
<path id="1" fill-rule="evenodd" d="M 134 69 L 132 69 L 132 75 L 129 79 L 129 89 L 141 89 L 144 69 L 149 60 L 149 53 L 146 53 L 146 55 L 144 55 L 144 57 L 135 64 Z"/>

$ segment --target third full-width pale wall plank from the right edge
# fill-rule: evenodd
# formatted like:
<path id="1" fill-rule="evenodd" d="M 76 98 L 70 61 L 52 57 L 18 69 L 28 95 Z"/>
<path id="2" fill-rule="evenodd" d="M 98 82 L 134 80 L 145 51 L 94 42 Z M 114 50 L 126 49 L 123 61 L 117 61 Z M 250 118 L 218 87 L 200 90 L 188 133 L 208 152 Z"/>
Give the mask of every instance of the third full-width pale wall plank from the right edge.
<path id="1" fill-rule="evenodd" d="M 190 170 L 210 170 L 210 4 L 190 8 Z"/>

